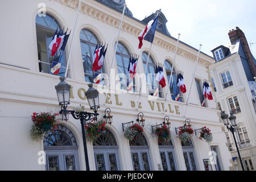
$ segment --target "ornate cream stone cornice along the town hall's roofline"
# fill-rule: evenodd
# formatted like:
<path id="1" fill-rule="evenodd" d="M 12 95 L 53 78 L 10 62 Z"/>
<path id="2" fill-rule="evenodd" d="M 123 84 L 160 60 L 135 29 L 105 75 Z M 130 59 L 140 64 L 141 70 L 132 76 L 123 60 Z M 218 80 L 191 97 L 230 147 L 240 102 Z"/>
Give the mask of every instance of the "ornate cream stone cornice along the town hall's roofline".
<path id="1" fill-rule="evenodd" d="M 79 0 L 55 0 L 65 6 L 71 7 L 72 9 L 77 10 L 79 5 Z M 81 13 L 84 13 L 92 18 L 100 20 L 110 26 L 115 28 L 119 28 L 120 19 L 116 18 L 120 16 L 118 11 L 114 11 L 107 6 L 102 5 L 94 0 L 82 1 L 81 3 Z M 130 18 L 129 16 L 125 16 L 122 24 L 122 31 L 127 32 L 128 34 L 138 36 L 144 28 L 144 24 Z M 166 49 L 171 52 L 175 52 L 177 40 L 170 38 L 169 36 L 163 35 L 160 32 L 156 32 L 154 44 L 163 49 Z M 185 44 L 180 43 L 179 48 L 177 49 L 177 54 L 185 57 L 188 60 L 196 61 L 197 51 Z M 204 67 L 208 68 L 210 65 L 214 63 L 214 59 L 200 54 L 199 64 L 204 65 Z"/>

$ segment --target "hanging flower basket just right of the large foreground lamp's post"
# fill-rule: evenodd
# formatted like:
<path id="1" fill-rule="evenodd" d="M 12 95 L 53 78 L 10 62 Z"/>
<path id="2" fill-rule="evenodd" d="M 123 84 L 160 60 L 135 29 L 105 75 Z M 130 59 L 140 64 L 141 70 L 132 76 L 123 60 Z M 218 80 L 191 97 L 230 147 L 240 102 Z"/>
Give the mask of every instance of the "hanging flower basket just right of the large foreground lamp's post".
<path id="1" fill-rule="evenodd" d="M 105 131 L 105 125 L 106 122 L 103 119 L 100 119 L 98 122 L 92 120 L 92 122 L 87 123 L 85 126 L 86 140 L 95 142 L 100 137 L 101 131 Z"/>

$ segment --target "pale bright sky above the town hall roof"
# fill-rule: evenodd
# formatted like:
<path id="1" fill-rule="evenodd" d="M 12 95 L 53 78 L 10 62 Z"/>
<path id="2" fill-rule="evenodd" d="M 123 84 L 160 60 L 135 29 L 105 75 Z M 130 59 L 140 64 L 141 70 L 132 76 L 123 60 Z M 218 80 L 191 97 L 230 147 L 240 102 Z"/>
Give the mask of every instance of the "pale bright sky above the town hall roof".
<path id="1" fill-rule="evenodd" d="M 229 30 L 239 27 L 256 57 L 255 0 L 126 0 L 139 20 L 161 9 L 171 36 L 212 56 L 212 49 L 230 44 Z"/>

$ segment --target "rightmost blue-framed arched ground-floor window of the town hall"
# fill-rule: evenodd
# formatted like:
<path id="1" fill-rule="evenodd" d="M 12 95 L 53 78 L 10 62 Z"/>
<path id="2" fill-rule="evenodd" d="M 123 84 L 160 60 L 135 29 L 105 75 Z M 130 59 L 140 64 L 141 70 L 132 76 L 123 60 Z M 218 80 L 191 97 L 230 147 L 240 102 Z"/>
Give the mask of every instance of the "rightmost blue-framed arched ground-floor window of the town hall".
<path id="1" fill-rule="evenodd" d="M 188 142 L 181 142 L 181 146 L 187 171 L 196 171 L 197 164 L 195 159 L 194 147 L 191 140 L 189 139 Z"/>

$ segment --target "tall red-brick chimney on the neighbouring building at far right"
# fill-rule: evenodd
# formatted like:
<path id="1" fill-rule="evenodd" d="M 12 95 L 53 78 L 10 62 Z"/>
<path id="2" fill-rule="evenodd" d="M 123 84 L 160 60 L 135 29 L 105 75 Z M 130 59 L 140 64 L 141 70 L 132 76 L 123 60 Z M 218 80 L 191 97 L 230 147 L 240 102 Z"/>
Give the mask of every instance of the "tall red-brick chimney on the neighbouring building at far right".
<path id="1" fill-rule="evenodd" d="M 253 73 L 253 77 L 256 76 L 256 68 L 253 61 L 253 55 L 251 54 L 248 42 L 246 40 L 245 34 L 242 30 L 240 30 L 239 27 L 236 27 L 236 30 L 232 29 L 232 31 L 229 31 L 229 39 L 231 44 L 237 42 L 238 39 L 240 39 L 240 42 L 242 44 L 243 50 L 245 51 L 246 59 L 248 60 L 248 63 L 250 65 L 251 72 Z"/>

